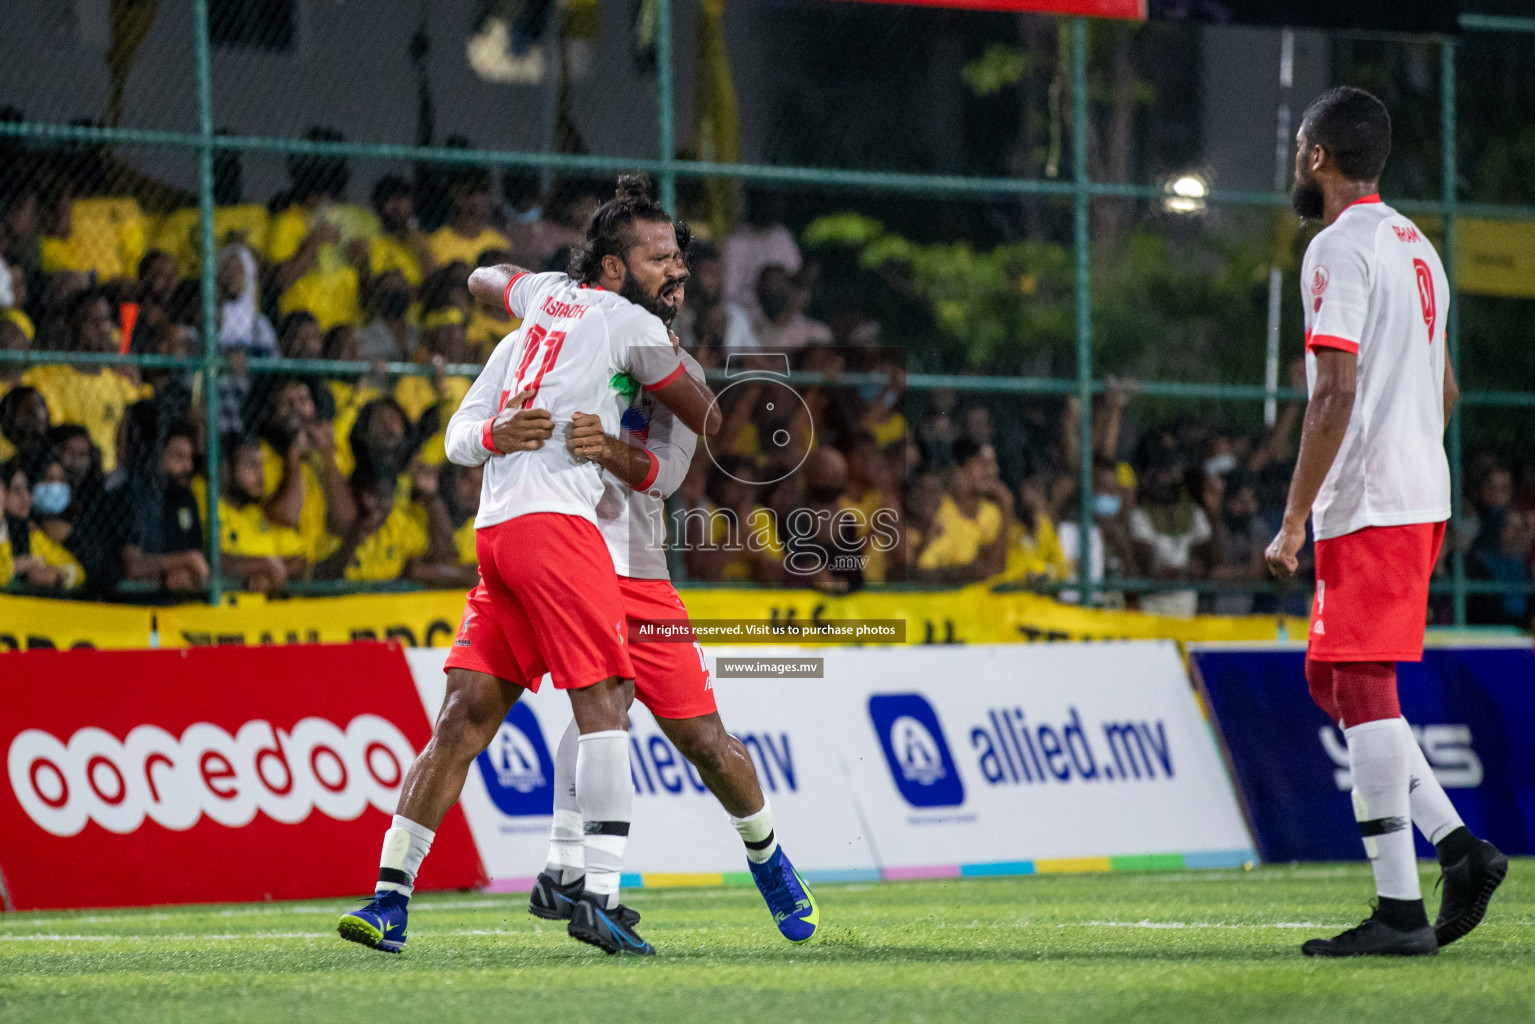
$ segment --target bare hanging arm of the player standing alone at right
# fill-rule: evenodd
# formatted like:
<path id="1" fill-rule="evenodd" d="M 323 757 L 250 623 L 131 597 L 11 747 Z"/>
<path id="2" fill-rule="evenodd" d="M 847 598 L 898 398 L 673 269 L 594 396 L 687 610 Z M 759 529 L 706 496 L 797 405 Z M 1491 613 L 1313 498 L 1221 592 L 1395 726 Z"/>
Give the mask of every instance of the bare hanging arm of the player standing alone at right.
<path id="1" fill-rule="evenodd" d="M 1317 348 L 1315 353 L 1317 385 L 1306 404 L 1306 418 L 1300 427 L 1300 454 L 1296 459 L 1296 473 L 1289 479 L 1285 520 L 1265 553 L 1268 571 L 1279 579 L 1289 579 L 1300 565 L 1296 556 L 1306 542 L 1311 504 L 1317 499 L 1332 461 L 1337 459 L 1349 416 L 1354 413 L 1358 356 L 1342 348 Z"/>

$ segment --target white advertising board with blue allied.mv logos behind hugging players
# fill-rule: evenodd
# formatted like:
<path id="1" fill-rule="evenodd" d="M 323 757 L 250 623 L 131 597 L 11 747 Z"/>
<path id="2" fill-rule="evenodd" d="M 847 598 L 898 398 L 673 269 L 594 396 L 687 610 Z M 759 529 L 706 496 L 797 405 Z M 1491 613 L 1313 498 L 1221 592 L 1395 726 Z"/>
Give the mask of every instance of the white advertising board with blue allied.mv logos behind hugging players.
<path id="1" fill-rule="evenodd" d="M 1230 866 L 1253 860 L 1176 645 L 709 648 L 715 699 L 812 881 Z M 821 679 L 720 679 L 717 659 L 824 659 Z M 407 651 L 428 717 L 444 648 Z M 464 808 L 493 884 L 548 852 L 569 700 L 545 685 L 476 760 Z M 625 884 L 720 881 L 740 840 L 635 705 Z M 731 881 L 732 878 L 725 878 Z"/>

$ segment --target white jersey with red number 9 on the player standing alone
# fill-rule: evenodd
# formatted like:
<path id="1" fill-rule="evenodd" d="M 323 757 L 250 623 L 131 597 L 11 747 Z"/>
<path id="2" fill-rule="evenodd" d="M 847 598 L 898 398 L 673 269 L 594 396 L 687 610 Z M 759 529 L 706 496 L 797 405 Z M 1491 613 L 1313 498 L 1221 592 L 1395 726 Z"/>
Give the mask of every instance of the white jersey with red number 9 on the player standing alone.
<path id="1" fill-rule="evenodd" d="M 1317 348 L 1358 355 L 1354 413 L 1311 505 L 1319 540 L 1449 519 L 1444 321 L 1449 281 L 1406 216 L 1365 197 L 1306 247 L 1306 390 Z"/>

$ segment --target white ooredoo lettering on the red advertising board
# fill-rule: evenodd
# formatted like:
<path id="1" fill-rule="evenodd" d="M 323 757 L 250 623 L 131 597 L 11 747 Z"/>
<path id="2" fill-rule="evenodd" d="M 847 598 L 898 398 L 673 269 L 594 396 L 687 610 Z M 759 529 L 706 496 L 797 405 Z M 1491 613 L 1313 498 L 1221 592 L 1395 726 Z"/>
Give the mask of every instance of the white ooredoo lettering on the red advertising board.
<path id="1" fill-rule="evenodd" d="M 261 811 L 296 824 L 312 811 L 352 821 L 373 804 L 393 814 L 416 751 L 394 723 L 364 714 L 345 729 L 302 718 L 292 729 L 253 720 L 230 735 L 198 722 L 180 738 L 141 725 L 118 740 L 106 729 L 80 729 L 61 742 L 26 729 L 11 742 L 11 789 L 28 817 L 69 837 L 95 821 L 117 834 L 147 817 L 172 831 L 206 814 L 227 827 L 250 824 Z"/>

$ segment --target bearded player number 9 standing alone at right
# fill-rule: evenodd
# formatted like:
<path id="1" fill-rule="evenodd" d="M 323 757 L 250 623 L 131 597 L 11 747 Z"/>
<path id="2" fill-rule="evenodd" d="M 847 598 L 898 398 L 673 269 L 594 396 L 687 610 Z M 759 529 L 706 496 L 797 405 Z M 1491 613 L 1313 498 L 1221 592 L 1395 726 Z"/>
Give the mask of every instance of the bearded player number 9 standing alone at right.
<path id="1" fill-rule="evenodd" d="M 1354 817 L 1378 903 L 1308 956 L 1421 956 L 1481 923 L 1507 858 L 1474 837 L 1434 778 L 1397 702 L 1397 662 L 1423 659 L 1429 576 L 1449 519 L 1444 427 L 1458 388 L 1444 352 L 1449 281 L 1434 246 L 1380 201 L 1391 117 L 1362 89 L 1323 94 L 1296 135 L 1291 200 L 1325 229 L 1306 249 L 1302 298 L 1309 402 L 1279 536 L 1280 579 L 1315 536 L 1306 682 L 1342 723 Z M 1412 844 L 1434 843 L 1444 894 L 1429 924 Z"/>

